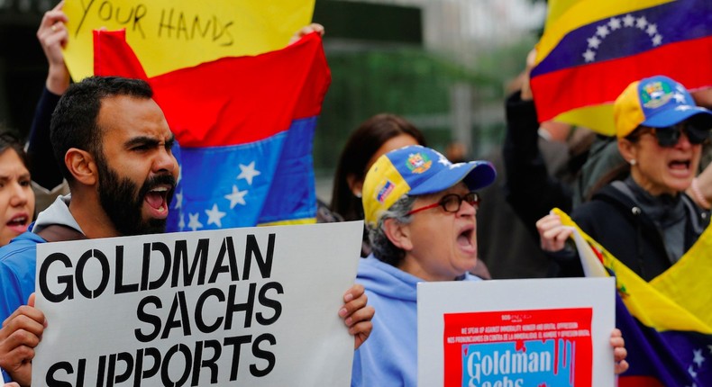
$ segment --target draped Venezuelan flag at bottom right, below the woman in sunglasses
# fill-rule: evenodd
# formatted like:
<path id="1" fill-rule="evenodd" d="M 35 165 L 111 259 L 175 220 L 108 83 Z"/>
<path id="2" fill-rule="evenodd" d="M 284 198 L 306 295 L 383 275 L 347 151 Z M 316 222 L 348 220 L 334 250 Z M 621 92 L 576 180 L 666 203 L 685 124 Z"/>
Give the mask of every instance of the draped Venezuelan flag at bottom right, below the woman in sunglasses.
<path id="1" fill-rule="evenodd" d="M 611 256 L 562 211 L 603 265 L 616 276 L 616 327 L 630 368 L 619 387 L 712 386 L 712 229 L 680 261 L 650 283 Z M 591 255 L 581 254 L 581 257 Z"/>

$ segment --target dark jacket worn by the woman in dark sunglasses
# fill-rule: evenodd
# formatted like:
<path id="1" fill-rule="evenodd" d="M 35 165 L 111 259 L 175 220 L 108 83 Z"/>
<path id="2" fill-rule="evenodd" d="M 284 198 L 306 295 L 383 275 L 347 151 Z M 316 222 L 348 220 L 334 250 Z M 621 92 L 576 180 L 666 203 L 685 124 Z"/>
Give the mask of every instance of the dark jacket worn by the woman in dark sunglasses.
<path id="1" fill-rule="evenodd" d="M 709 223 L 709 213 L 703 211 L 685 194 L 680 193 L 687 213 L 685 222 L 685 251 L 697 241 Z M 670 268 L 661 231 L 655 227 L 632 197 L 608 184 L 590 202 L 581 204 L 571 214 L 584 232 L 589 234 L 625 266 L 650 281 Z M 678 257 L 679 258 L 679 257 Z M 583 275 L 578 257 L 567 275 Z"/>

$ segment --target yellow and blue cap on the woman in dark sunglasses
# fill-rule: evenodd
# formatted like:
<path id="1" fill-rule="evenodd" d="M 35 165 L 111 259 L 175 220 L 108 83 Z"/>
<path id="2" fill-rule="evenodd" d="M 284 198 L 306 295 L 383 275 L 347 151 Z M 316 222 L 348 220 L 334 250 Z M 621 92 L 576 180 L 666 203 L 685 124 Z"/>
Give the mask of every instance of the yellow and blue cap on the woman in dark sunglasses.
<path id="1" fill-rule="evenodd" d="M 664 128 L 703 116 L 712 128 L 712 112 L 697 106 L 688 90 L 667 76 L 651 76 L 625 87 L 613 104 L 616 136 L 629 135 L 639 125 Z"/>

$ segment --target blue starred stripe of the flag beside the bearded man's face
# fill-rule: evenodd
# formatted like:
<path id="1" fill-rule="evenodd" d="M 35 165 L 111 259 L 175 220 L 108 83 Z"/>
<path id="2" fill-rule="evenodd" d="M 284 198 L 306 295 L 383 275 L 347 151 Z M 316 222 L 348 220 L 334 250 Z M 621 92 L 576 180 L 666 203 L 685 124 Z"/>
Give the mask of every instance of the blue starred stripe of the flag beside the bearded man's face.
<path id="1" fill-rule="evenodd" d="M 176 147 L 181 178 L 167 231 L 314 218 L 316 121 L 316 117 L 292 121 L 288 130 L 248 144 Z"/>

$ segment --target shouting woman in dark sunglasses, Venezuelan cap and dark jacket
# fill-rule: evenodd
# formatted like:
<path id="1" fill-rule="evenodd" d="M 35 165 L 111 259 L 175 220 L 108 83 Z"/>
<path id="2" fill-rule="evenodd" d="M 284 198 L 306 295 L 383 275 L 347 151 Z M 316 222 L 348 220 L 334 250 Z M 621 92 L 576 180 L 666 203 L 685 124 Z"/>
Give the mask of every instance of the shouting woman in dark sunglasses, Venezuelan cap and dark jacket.
<path id="1" fill-rule="evenodd" d="M 614 114 L 618 150 L 630 176 L 605 186 L 571 218 L 650 281 L 674 265 L 709 223 L 709 211 L 685 190 L 697 174 L 702 144 L 709 141 L 712 112 L 698 107 L 683 85 L 652 76 L 628 85 Z M 552 214 L 536 226 L 542 248 L 569 268 L 563 275 L 583 275 L 576 253 L 564 248 L 571 229 Z"/>

